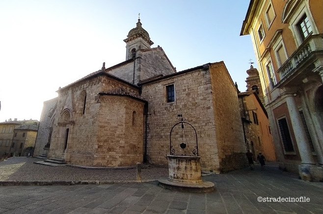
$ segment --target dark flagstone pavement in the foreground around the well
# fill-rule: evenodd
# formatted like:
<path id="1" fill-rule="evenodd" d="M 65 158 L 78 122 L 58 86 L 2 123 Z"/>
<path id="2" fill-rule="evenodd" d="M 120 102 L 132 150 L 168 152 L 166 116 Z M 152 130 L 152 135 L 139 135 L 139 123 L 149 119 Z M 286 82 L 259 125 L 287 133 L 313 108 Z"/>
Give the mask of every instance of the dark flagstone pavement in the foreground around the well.
<path id="1" fill-rule="evenodd" d="M 2 164 L 2 163 L 1 163 Z M 1 166 L 0 164 L 0 166 Z M 61 166 L 59 166 L 61 167 Z M 67 166 L 63 166 L 67 167 Z M 55 168 L 55 167 L 53 167 Z M 323 214 L 323 183 L 260 166 L 203 176 L 216 190 L 165 190 L 158 182 L 72 186 L 0 186 L 2 214 Z M 271 202 L 258 202 L 262 197 Z M 280 198 L 279 198 L 280 197 Z M 282 202 L 283 198 L 295 201 Z M 273 202 L 273 200 L 281 202 Z"/>

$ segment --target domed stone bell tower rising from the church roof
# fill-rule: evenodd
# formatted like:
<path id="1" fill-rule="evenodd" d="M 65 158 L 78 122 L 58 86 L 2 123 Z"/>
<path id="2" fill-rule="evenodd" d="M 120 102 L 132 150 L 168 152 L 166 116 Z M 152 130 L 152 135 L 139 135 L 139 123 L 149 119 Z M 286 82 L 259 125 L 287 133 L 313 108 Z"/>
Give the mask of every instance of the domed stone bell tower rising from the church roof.
<path id="1" fill-rule="evenodd" d="M 141 27 L 140 19 L 137 26 L 128 33 L 128 38 L 123 40 L 126 46 L 126 60 L 135 58 L 136 51 L 139 49 L 148 49 L 154 43 L 150 40 L 148 32 Z"/>

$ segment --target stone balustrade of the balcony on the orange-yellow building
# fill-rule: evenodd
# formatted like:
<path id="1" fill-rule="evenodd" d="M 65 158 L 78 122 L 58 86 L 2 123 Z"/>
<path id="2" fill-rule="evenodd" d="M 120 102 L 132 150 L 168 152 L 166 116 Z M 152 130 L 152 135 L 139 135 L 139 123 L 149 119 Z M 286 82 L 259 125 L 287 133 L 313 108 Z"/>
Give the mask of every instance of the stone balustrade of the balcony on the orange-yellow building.
<path id="1" fill-rule="evenodd" d="M 278 69 L 281 79 L 295 71 L 298 64 L 303 62 L 311 52 L 323 51 L 323 34 L 310 35 L 301 44 L 296 51 L 287 59 L 287 61 Z"/>

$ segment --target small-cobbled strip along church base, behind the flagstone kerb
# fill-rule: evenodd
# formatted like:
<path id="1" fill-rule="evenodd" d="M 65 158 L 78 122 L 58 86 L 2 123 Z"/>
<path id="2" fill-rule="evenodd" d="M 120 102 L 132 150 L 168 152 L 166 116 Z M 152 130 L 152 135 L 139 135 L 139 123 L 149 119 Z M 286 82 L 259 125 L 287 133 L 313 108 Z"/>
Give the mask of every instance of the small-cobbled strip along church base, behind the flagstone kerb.
<path id="1" fill-rule="evenodd" d="M 14 157 L 0 161 L 0 181 L 133 181 L 136 169 L 89 169 L 33 164 L 38 158 Z M 168 176 L 168 168 L 143 165 L 142 180 Z"/>

